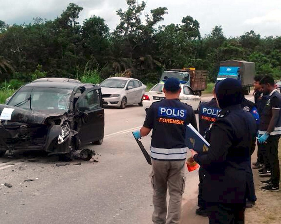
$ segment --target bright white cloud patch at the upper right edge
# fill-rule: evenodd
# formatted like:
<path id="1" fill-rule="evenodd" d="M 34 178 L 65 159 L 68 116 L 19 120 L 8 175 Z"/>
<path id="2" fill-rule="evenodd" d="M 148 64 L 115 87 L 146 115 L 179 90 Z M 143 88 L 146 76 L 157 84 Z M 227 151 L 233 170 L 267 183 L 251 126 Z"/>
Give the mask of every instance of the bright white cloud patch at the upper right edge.
<path id="1" fill-rule="evenodd" d="M 276 9 L 269 11 L 263 16 L 254 17 L 251 19 L 245 20 L 245 24 L 249 25 L 259 25 L 264 23 L 280 23 L 281 25 L 281 10 Z"/>

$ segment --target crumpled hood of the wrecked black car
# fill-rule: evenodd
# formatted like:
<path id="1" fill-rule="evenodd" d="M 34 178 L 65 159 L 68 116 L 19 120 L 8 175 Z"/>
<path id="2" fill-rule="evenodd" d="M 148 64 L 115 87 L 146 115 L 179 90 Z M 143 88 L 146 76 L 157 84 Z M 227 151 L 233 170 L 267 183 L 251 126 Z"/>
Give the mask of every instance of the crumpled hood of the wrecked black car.
<path id="1" fill-rule="evenodd" d="M 14 109 L 11 114 L 11 122 L 22 122 L 27 124 L 44 124 L 49 117 L 60 117 L 66 113 L 65 110 L 26 110 L 20 107 L 12 107 L 0 104 L 0 114 L 4 108 Z"/>

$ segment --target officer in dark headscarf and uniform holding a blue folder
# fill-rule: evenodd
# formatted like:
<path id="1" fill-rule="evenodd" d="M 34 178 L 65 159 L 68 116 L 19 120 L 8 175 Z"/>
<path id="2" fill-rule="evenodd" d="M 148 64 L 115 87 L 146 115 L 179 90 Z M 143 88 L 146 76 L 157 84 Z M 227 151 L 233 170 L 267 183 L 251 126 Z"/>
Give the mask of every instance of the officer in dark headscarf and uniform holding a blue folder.
<path id="1" fill-rule="evenodd" d="M 247 170 L 255 148 L 257 125 L 241 107 L 244 98 L 239 81 L 225 79 L 215 89 L 222 109 L 208 136 L 207 153 L 191 150 L 193 159 L 205 170 L 203 199 L 209 223 L 244 223 Z"/>

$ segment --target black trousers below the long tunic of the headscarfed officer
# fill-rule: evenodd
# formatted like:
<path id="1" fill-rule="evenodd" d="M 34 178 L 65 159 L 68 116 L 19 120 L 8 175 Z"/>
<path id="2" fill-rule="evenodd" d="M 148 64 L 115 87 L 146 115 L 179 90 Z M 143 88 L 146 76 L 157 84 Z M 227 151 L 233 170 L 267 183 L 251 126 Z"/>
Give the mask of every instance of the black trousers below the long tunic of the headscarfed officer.
<path id="1" fill-rule="evenodd" d="M 209 204 L 209 224 L 244 224 L 245 204 Z"/>

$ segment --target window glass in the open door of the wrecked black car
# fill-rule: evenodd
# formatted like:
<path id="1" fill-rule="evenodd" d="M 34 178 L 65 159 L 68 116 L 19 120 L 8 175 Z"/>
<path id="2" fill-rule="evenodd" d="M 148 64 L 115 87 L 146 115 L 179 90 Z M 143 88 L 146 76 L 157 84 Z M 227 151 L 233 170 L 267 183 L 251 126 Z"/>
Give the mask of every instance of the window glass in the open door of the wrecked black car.
<path id="1" fill-rule="evenodd" d="M 80 98 L 77 104 L 78 111 L 87 111 L 100 108 L 100 98 L 96 90 L 88 92 Z"/>

